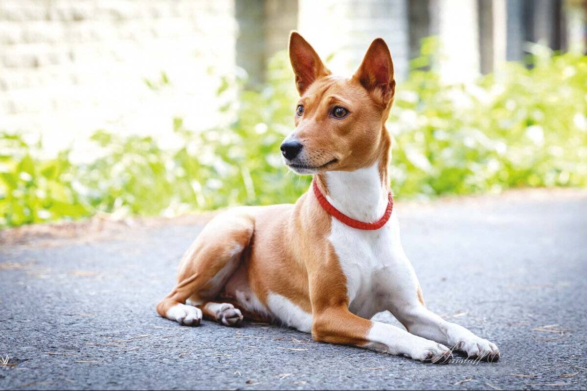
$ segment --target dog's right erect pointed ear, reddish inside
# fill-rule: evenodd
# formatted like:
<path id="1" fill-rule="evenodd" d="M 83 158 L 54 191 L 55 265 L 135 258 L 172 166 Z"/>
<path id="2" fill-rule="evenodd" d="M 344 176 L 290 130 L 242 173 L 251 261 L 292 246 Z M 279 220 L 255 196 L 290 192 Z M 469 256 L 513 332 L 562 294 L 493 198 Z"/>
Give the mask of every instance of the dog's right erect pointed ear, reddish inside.
<path id="1" fill-rule="evenodd" d="M 396 81 L 393 79 L 392 55 L 383 39 L 377 38 L 371 43 L 353 77 L 385 107 L 392 101 Z"/>

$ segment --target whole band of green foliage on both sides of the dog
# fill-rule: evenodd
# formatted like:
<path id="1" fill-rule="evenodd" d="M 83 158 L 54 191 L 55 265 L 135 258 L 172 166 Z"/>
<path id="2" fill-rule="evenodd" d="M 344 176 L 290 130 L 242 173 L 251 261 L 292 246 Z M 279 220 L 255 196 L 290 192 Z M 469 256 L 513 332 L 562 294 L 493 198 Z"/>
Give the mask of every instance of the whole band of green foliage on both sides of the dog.
<path id="1" fill-rule="evenodd" d="M 431 64 L 433 47 L 425 43 L 413 60 L 387 123 L 397 195 L 587 185 L 587 57 L 536 46 L 530 69 L 508 63 L 474 85 L 447 86 Z M 176 149 L 98 131 L 98 157 L 73 165 L 68 150 L 46 157 L 41 142 L 0 133 L 0 227 L 294 202 L 310 178 L 288 174 L 279 156 L 297 99 L 285 53 L 268 69 L 259 91 L 222 81 L 227 124 L 193 132 L 173 118 Z M 147 84 L 168 83 L 161 73 Z"/>

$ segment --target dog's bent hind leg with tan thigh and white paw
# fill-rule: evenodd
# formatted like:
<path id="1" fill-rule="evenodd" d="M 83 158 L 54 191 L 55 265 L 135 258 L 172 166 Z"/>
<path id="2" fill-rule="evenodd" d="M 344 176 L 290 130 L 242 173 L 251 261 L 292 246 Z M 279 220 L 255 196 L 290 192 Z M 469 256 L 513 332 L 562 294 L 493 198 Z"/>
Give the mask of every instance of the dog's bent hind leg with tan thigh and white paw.
<path id="1" fill-rule="evenodd" d="M 214 217 L 186 251 L 180 263 L 177 285 L 157 304 L 158 314 L 186 326 L 199 325 L 202 311 L 215 314 L 218 308 L 212 305 L 207 308 L 203 304 L 214 300 L 237 270 L 253 231 L 254 220 L 246 213 L 225 212 Z M 185 305 L 188 299 L 191 305 Z M 234 320 L 234 314 L 226 315 Z"/>

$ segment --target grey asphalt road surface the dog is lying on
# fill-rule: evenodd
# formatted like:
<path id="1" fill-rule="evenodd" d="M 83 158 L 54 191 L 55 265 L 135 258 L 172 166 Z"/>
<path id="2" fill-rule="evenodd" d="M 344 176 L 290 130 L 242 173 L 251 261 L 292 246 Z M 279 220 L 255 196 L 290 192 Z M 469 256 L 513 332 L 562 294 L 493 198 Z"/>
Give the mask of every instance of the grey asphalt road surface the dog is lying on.
<path id="1" fill-rule="evenodd" d="M 171 220 L 2 244 L 0 388 L 585 389 L 587 192 L 396 210 L 428 307 L 495 342 L 500 362 L 427 365 L 273 325 L 159 318 L 201 229 Z"/>

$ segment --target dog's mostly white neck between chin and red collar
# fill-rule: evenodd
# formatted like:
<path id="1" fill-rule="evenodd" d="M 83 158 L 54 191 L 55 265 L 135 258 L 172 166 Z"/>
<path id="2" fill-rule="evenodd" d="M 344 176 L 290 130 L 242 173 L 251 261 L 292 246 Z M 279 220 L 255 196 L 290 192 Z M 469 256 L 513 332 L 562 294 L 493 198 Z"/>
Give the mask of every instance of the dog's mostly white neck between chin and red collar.
<path id="1" fill-rule="evenodd" d="M 326 199 L 340 212 L 362 222 L 380 219 L 389 202 L 386 166 L 375 162 L 355 171 L 328 171 L 322 175 Z"/>

